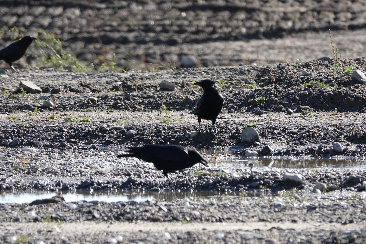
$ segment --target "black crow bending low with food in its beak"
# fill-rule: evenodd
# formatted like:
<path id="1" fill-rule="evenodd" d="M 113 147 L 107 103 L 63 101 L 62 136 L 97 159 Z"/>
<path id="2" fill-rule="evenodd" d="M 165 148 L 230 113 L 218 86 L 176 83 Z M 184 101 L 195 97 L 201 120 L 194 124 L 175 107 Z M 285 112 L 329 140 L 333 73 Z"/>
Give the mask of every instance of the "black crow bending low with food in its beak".
<path id="1" fill-rule="evenodd" d="M 145 144 L 141 147 L 126 147 L 128 154 L 119 157 L 135 157 L 152 162 L 158 170 L 168 177 L 168 172 L 182 170 L 202 163 L 208 167 L 207 161 L 195 149 L 179 145 Z M 169 178 L 169 177 L 168 177 Z"/>

